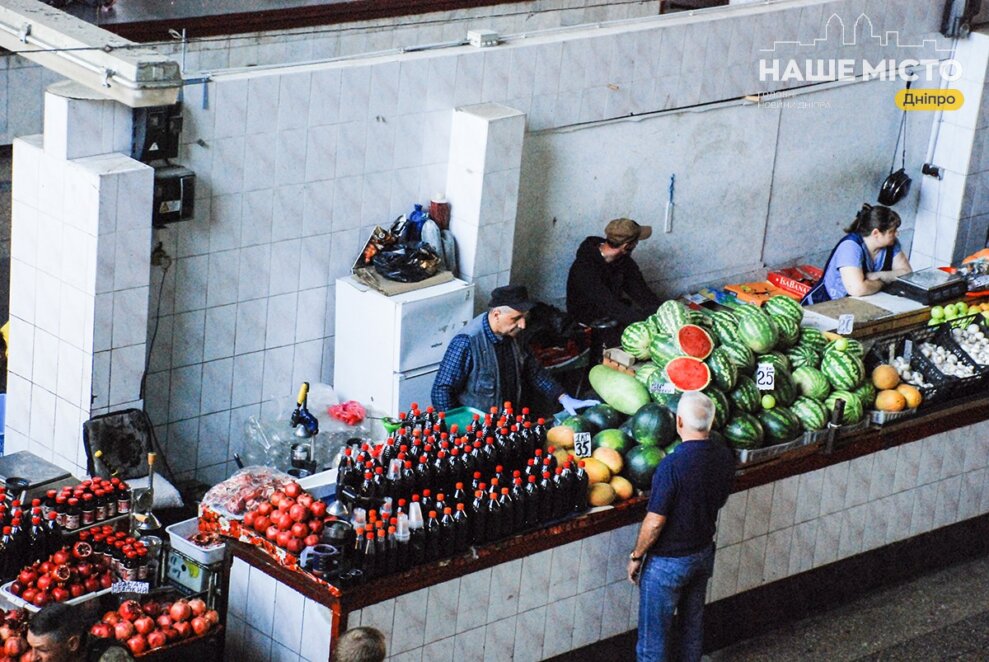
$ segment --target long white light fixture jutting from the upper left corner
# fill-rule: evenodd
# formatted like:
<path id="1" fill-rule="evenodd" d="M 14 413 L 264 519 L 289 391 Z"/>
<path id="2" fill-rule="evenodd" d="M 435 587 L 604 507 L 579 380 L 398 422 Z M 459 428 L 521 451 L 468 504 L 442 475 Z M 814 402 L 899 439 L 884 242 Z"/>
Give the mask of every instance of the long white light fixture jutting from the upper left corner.
<path id="1" fill-rule="evenodd" d="M 0 47 L 131 108 L 178 99 L 177 62 L 37 0 L 0 2 Z"/>

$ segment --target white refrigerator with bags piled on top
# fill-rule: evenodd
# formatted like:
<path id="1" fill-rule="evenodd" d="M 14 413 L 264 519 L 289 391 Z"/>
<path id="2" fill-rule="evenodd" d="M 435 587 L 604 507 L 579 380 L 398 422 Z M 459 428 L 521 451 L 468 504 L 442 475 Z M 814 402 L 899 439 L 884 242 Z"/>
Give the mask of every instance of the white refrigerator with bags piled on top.
<path id="1" fill-rule="evenodd" d="M 395 416 L 430 391 L 450 340 L 474 317 L 474 285 L 452 280 L 385 296 L 350 276 L 336 282 L 333 387 Z"/>

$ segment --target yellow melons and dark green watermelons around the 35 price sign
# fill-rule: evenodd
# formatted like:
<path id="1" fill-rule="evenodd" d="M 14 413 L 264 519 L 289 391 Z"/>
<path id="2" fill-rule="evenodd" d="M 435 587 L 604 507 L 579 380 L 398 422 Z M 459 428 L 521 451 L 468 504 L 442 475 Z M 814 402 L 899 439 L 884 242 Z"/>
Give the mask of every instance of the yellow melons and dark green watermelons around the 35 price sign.
<path id="1" fill-rule="evenodd" d="M 673 413 L 648 400 L 647 396 L 631 416 L 602 403 L 580 416 L 571 416 L 547 433 L 547 448 L 553 449 L 560 463 L 573 458 L 575 433 L 593 435 L 591 456 L 581 458 L 588 475 L 591 506 L 607 506 L 632 497 L 636 490 L 648 490 L 656 467 L 680 443 Z"/>

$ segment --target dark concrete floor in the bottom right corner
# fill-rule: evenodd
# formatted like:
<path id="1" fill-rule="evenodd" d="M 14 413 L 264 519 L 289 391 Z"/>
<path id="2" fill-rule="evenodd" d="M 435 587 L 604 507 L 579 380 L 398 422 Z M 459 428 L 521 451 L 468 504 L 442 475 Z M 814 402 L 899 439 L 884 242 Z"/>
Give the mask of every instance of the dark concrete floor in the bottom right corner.
<path id="1" fill-rule="evenodd" d="M 936 564 L 931 559 L 931 564 Z M 711 653 L 711 662 L 989 660 L 989 557 Z"/>

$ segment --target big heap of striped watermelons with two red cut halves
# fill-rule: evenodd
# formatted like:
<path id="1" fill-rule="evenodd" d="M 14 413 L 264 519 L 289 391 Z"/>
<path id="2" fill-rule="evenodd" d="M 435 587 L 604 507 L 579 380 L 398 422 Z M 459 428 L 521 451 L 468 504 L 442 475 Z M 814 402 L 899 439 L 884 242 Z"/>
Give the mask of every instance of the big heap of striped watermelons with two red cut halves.
<path id="1" fill-rule="evenodd" d="M 602 367 L 592 370 L 591 385 L 626 413 L 646 398 L 675 411 L 681 393 L 703 391 L 715 404 L 714 429 L 737 449 L 821 430 L 839 400 L 845 403 L 842 422 L 858 423 L 876 398 L 864 347 L 802 321 L 803 308 L 787 296 L 717 311 L 665 301 L 622 334 L 623 349 L 644 361 L 635 377 L 619 378 Z M 756 383 L 760 364 L 773 366 L 772 389 Z"/>

